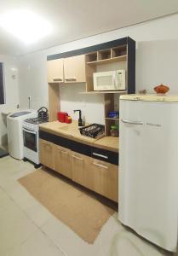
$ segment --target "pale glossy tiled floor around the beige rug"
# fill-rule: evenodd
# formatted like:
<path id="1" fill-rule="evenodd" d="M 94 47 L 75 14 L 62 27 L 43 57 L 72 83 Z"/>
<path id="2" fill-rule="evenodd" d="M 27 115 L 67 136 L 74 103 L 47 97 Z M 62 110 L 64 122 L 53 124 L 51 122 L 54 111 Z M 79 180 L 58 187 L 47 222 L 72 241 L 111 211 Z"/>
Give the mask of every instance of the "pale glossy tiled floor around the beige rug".
<path id="1" fill-rule="evenodd" d="M 33 172 L 30 163 L 0 159 L 0 256 L 165 256 L 125 230 L 115 213 L 93 245 L 56 219 L 17 182 Z"/>

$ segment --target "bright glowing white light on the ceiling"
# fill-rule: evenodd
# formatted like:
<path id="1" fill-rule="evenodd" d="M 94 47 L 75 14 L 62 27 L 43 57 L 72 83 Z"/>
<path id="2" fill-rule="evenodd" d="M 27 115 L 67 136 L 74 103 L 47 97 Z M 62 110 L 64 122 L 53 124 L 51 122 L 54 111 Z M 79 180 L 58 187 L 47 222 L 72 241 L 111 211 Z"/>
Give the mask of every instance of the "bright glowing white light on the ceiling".
<path id="1" fill-rule="evenodd" d="M 52 32 L 49 21 L 28 10 L 12 10 L 0 15 L 0 26 L 26 44 L 32 44 Z"/>

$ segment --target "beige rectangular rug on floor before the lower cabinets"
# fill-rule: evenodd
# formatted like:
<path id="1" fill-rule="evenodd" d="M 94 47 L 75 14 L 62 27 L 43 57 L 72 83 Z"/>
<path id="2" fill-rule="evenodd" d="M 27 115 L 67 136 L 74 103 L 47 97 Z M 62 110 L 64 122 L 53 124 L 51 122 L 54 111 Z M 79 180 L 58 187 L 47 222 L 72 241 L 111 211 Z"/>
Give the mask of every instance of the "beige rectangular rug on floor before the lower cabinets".
<path id="1" fill-rule="evenodd" d="M 95 197 L 45 169 L 21 177 L 19 182 L 49 212 L 89 243 L 95 241 L 103 224 L 114 213 Z"/>

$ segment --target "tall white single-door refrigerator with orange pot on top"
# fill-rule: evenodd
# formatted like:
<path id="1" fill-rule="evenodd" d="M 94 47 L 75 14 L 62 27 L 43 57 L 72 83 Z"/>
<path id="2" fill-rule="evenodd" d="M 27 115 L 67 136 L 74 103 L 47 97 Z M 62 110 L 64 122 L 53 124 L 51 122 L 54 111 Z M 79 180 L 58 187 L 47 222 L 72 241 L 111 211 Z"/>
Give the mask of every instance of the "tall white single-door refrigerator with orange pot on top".
<path id="1" fill-rule="evenodd" d="M 178 96 L 120 97 L 118 218 L 176 251 Z"/>

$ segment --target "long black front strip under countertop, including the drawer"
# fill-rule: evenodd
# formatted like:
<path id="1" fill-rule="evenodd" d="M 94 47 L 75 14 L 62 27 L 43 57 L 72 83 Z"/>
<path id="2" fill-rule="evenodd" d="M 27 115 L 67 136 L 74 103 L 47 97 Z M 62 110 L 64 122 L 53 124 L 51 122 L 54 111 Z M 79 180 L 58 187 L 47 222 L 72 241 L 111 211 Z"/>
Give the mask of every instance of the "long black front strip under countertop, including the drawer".
<path id="1" fill-rule="evenodd" d="M 54 143 L 55 145 L 71 149 L 72 151 L 79 154 L 87 155 L 97 160 L 103 160 L 118 166 L 118 153 L 116 152 L 112 152 L 102 148 L 95 148 L 93 146 L 89 146 L 83 143 L 78 143 L 65 137 L 60 137 L 42 130 L 39 130 L 39 138 L 50 143 Z M 106 156 L 106 158 L 100 155 Z"/>

